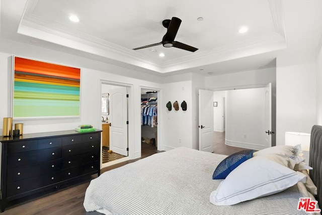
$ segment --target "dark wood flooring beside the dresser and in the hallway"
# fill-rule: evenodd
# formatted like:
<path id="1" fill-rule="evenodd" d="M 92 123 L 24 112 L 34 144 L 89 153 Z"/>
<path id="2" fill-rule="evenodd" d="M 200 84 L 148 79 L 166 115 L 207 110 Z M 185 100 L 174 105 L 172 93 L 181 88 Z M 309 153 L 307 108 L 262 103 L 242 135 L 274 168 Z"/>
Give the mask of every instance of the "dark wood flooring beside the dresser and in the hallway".
<path id="1" fill-rule="evenodd" d="M 214 153 L 230 155 L 234 152 L 243 150 L 241 148 L 226 146 L 224 144 L 224 133 L 217 133 L 215 132 L 214 135 Z M 141 158 L 128 160 L 119 164 L 115 164 L 113 166 L 106 167 L 101 170 L 101 173 L 118 168 L 128 163 L 132 163 L 159 152 L 160 151 L 157 151 L 155 146 L 142 143 Z M 73 186 L 71 187 L 60 187 L 59 190 L 50 190 L 54 191 L 53 193 L 43 192 L 17 201 L 8 202 L 6 210 L 0 215 L 85 215 L 86 211 L 83 206 L 85 191 L 90 184 L 90 181 L 96 177 L 97 175 L 92 175 L 86 178 L 86 182 L 75 182 L 75 184 L 73 184 Z"/>

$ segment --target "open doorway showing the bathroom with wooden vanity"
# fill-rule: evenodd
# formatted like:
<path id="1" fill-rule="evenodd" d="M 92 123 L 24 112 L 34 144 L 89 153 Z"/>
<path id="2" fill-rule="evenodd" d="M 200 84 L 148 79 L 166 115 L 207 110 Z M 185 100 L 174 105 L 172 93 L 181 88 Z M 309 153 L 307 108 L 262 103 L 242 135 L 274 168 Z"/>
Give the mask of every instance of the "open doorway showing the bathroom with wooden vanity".
<path id="1" fill-rule="evenodd" d="M 102 167 L 127 160 L 128 87 L 101 82 Z"/>

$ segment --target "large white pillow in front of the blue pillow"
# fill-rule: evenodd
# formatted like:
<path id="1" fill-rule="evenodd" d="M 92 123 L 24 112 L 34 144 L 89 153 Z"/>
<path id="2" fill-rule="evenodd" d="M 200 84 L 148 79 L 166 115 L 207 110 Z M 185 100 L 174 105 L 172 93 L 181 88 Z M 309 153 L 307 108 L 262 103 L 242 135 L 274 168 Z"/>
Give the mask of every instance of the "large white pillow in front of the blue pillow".
<path id="1" fill-rule="evenodd" d="M 235 168 L 210 194 L 215 205 L 232 205 L 281 192 L 306 181 L 303 173 L 262 156 L 253 157 Z"/>

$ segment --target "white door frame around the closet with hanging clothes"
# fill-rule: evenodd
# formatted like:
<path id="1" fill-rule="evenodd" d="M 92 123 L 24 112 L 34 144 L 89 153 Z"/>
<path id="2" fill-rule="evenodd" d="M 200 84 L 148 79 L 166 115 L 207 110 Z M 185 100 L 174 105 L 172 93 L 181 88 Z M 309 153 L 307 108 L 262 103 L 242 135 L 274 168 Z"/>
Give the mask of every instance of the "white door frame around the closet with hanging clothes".
<path id="1" fill-rule="evenodd" d="M 157 127 L 156 127 L 156 132 L 157 132 L 157 137 L 156 137 L 156 141 L 157 141 L 157 147 L 156 149 L 158 151 L 162 151 L 163 150 L 163 141 L 162 141 L 162 111 L 163 111 L 163 105 L 162 104 L 162 89 L 160 88 L 155 88 L 155 87 L 149 87 L 149 86 L 143 86 L 143 85 L 139 85 L 139 92 L 140 92 L 140 101 L 141 101 L 141 91 L 142 90 L 153 90 L 153 91 L 157 91 Z M 140 102 L 140 110 L 141 110 L 141 102 Z M 141 125 L 140 125 L 141 128 Z M 141 129 L 140 129 L 141 132 Z M 141 136 L 141 133 L 140 133 Z M 139 157 L 141 157 L 141 147 L 139 150 Z"/>

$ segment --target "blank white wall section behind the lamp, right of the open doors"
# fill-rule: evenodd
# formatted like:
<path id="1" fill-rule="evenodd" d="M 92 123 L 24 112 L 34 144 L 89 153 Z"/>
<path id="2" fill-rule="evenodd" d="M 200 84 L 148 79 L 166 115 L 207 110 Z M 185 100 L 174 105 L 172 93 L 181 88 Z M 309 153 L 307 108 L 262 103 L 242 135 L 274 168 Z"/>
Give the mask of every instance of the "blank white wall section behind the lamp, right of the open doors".
<path id="1" fill-rule="evenodd" d="M 276 71 L 276 145 L 284 145 L 285 132 L 310 133 L 312 126 L 315 124 L 316 64 L 312 62 L 278 66 L 279 61 L 278 58 Z"/>

